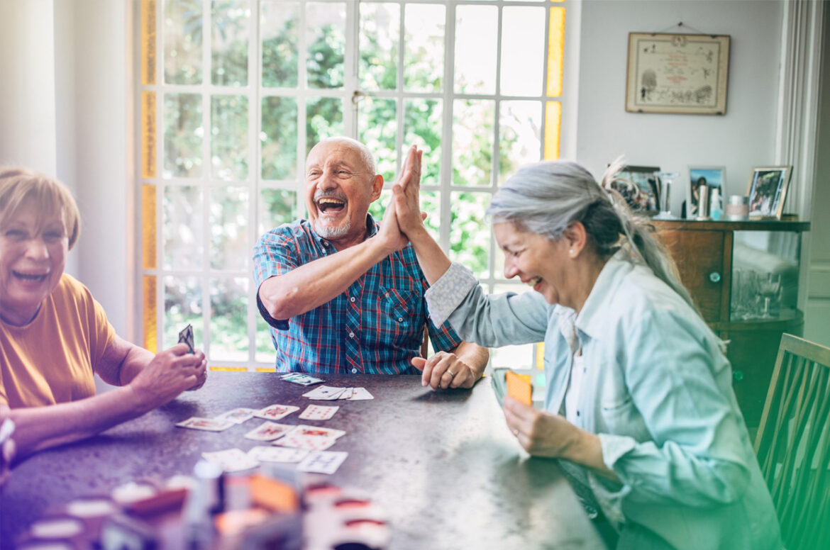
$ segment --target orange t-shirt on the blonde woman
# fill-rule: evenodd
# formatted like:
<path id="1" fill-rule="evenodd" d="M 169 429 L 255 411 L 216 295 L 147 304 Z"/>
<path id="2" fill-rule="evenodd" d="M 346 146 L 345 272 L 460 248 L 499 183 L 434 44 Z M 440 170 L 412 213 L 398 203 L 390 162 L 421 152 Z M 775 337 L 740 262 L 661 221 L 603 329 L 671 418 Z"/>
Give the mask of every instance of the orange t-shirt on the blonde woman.
<path id="1" fill-rule="evenodd" d="M 71 275 L 61 275 L 35 319 L 0 319 L 0 403 L 12 409 L 95 395 L 93 374 L 115 329 L 101 305 Z"/>

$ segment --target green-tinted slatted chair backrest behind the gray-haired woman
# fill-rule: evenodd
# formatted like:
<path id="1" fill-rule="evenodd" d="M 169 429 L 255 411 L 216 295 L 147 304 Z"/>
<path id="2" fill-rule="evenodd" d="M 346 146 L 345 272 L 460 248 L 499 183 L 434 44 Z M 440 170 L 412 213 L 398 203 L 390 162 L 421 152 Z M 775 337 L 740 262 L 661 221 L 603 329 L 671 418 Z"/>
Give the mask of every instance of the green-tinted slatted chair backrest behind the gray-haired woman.
<path id="1" fill-rule="evenodd" d="M 781 338 L 755 455 L 784 546 L 830 548 L 830 348 Z"/>

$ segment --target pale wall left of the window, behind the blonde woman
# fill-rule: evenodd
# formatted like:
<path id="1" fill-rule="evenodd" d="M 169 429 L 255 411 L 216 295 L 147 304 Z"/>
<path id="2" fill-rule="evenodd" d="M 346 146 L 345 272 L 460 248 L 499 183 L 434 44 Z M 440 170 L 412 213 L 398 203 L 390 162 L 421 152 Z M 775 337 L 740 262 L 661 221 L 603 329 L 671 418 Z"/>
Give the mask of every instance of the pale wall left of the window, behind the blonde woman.
<path id="1" fill-rule="evenodd" d="M 129 0 L 0 1 L 0 163 L 66 183 L 81 238 L 66 271 L 132 336 Z"/>

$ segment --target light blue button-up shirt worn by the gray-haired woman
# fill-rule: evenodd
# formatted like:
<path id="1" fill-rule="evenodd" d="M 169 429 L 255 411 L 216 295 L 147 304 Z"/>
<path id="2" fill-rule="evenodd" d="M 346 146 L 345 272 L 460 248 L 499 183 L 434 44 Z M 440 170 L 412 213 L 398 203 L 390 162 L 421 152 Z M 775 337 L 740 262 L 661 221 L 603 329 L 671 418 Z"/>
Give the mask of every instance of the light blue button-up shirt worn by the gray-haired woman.
<path id="1" fill-rule="evenodd" d="M 544 340 L 544 406 L 562 410 L 573 353 L 587 371 L 578 426 L 598 434 L 603 460 L 623 484 L 582 470 L 603 513 L 622 528 L 650 529 L 679 549 L 782 548 L 778 520 L 732 391 L 729 361 L 703 320 L 652 271 L 608 260 L 583 309 L 541 294 L 486 296 L 453 264 L 427 290 L 433 323 L 449 319 L 482 346 Z"/>

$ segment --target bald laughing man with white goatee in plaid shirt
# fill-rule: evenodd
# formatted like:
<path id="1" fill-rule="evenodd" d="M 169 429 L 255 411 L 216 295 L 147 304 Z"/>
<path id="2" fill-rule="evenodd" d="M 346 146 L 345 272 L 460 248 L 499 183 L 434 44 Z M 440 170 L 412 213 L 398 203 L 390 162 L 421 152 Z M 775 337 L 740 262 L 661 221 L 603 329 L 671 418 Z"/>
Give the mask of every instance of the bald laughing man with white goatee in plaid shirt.
<path id="1" fill-rule="evenodd" d="M 420 178 L 408 152 L 398 183 Z M 439 387 L 471 387 L 489 352 L 427 317 L 427 290 L 395 209 L 382 223 L 369 205 L 383 176 L 372 153 L 349 138 L 325 139 L 305 161 L 309 219 L 279 226 L 254 249 L 256 303 L 271 325 L 277 372 L 414 374 Z M 418 356 L 424 325 L 437 353 Z"/>

